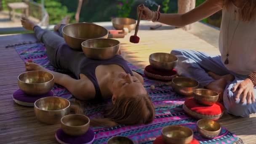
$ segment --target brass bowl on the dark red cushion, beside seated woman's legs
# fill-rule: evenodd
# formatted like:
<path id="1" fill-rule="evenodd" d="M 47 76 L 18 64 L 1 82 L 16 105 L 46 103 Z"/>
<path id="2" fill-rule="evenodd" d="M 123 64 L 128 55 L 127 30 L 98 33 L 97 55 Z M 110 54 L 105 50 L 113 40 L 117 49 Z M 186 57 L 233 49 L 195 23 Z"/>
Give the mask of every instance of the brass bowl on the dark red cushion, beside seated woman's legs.
<path id="1" fill-rule="evenodd" d="M 158 70 L 171 71 L 177 64 L 178 57 L 171 53 L 152 53 L 149 56 L 150 65 Z"/>

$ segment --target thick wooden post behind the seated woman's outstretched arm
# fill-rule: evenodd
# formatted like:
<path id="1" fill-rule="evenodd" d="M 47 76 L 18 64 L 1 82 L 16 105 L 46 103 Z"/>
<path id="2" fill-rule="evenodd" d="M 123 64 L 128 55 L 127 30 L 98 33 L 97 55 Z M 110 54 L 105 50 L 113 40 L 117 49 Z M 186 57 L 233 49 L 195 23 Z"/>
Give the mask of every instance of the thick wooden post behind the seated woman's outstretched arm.
<path id="1" fill-rule="evenodd" d="M 195 8 L 195 0 L 178 0 L 178 13 L 187 13 L 188 11 Z M 192 25 L 186 25 L 185 30 L 192 28 Z"/>

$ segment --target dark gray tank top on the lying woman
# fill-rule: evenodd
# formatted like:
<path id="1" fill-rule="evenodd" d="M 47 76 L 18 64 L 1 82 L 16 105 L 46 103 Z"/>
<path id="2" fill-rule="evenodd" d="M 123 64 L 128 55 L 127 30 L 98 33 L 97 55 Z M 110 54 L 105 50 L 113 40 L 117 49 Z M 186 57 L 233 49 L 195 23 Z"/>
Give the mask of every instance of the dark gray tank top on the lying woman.
<path id="1" fill-rule="evenodd" d="M 102 99 L 99 83 L 96 79 L 95 69 L 99 65 L 106 64 L 118 64 L 133 76 L 131 69 L 128 67 L 127 61 L 122 56 L 116 55 L 111 59 L 100 61 L 93 60 L 85 57 L 82 51 L 75 51 L 67 45 L 67 43 L 61 43 L 56 50 L 56 66 L 61 69 L 67 69 L 75 76 L 76 79 L 80 79 L 80 73 L 88 77 L 95 88 L 95 98 Z"/>

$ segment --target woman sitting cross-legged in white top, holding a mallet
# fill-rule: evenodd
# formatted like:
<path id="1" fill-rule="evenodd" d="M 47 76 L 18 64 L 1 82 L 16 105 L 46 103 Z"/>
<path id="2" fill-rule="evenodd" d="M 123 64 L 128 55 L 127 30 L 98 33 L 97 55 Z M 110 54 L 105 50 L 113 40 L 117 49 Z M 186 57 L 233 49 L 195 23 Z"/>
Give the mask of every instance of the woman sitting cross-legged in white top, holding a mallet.
<path id="1" fill-rule="evenodd" d="M 175 49 L 179 75 L 192 77 L 208 89 L 220 93 L 232 115 L 256 113 L 256 0 L 205 0 L 184 14 L 152 12 L 138 7 L 142 19 L 183 27 L 222 10 L 219 35 L 220 56 Z"/>

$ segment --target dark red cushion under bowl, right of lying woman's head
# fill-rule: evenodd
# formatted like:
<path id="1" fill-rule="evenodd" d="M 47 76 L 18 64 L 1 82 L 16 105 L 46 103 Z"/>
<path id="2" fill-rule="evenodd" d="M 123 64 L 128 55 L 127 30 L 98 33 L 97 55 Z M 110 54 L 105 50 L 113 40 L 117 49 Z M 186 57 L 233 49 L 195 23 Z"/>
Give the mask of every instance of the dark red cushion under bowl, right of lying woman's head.
<path id="1" fill-rule="evenodd" d="M 151 77 L 157 80 L 172 80 L 174 77 L 176 77 L 176 70 L 173 69 L 171 71 L 159 71 L 154 69 L 151 65 L 148 65 L 144 69 L 144 74 L 147 77 Z"/>

